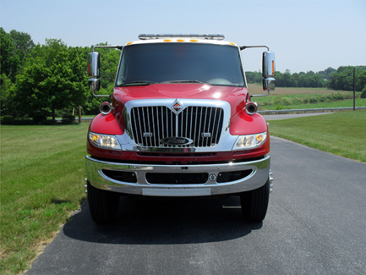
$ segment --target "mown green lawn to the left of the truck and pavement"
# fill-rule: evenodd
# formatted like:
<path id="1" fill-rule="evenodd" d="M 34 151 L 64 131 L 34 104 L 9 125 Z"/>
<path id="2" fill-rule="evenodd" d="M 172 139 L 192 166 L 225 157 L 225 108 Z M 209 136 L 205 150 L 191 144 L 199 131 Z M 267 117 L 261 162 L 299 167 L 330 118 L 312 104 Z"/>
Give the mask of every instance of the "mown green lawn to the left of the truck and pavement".
<path id="1" fill-rule="evenodd" d="M 80 208 L 88 125 L 1 126 L 1 274 L 27 270 Z"/>

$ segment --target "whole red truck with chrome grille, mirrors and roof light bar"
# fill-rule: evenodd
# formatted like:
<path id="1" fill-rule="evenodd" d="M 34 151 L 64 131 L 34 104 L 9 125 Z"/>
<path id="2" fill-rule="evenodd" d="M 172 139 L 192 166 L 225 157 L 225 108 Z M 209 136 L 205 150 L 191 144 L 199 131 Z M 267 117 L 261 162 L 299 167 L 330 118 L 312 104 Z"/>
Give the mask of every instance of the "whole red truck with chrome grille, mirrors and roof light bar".
<path id="1" fill-rule="evenodd" d="M 273 178 L 266 120 L 247 89 L 241 51 L 266 47 L 263 87 L 274 89 L 267 46 L 222 34 L 140 34 L 121 50 L 110 102 L 89 126 L 86 170 L 91 217 L 115 219 L 119 195 L 239 195 L 244 219 L 262 221 Z M 89 54 L 89 87 L 100 56 Z M 100 96 L 95 94 L 95 96 Z"/>

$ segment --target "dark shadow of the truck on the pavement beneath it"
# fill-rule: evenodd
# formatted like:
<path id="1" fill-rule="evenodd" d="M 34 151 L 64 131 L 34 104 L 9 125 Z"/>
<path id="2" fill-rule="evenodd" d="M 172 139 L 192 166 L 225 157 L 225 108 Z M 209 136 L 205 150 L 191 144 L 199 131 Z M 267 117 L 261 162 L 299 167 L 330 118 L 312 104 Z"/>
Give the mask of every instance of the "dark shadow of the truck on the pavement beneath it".
<path id="1" fill-rule="evenodd" d="M 238 239 L 262 228 L 242 220 L 239 197 L 161 199 L 121 197 L 117 221 L 96 225 L 84 203 L 65 236 L 93 243 L 185 244 Z"/>

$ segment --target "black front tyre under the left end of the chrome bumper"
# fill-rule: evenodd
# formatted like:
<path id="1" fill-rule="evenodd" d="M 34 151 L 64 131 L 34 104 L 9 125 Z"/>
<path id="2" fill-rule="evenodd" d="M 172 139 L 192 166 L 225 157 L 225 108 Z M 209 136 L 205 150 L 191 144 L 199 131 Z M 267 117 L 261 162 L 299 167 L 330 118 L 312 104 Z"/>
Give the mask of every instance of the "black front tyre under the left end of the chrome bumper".
<path id="1" fill-rule="evenodd" d="M 88 202 L 91 218 L 95 223 L 106 224 L 117 215 L 119 195 L 115 192 L 101 190 L 88 181 Z"/>

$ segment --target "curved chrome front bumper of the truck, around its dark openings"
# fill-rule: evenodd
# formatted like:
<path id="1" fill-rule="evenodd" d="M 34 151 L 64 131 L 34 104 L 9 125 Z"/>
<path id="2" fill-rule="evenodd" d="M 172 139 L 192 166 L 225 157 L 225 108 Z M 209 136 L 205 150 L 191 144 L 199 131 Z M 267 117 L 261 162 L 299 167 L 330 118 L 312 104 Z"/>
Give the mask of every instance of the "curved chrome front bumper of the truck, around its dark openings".
<path id="1" fill-rule="evenodd" d="M 159 197 L 194 197 L 233 194 L 254 190 L 263 186 L 270 173 L 270 156 L 251 162 L 230 162 L 227 164 L 200 165 L 157 165 L 157 164 L 128 164 L 106 162 L 87 155 L 87 180 L 95 188 L 111 190 L 124 194 L 159 196 Z M 106 175 L 108 171 L 127 172 L 133 175 L 135 182 L 113 179 Z M 251 170 L 243 178 L 217 182 L 220 173 Z M 150 184 L 146 177 L 149 173 L 207 173 L 205 183 L 195 184 Z M 230 179 L 229 179 L 230 180 Z"/>

